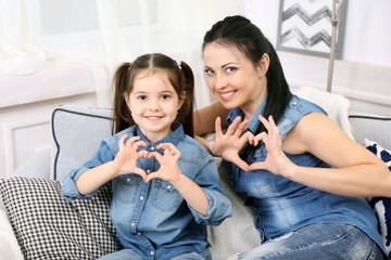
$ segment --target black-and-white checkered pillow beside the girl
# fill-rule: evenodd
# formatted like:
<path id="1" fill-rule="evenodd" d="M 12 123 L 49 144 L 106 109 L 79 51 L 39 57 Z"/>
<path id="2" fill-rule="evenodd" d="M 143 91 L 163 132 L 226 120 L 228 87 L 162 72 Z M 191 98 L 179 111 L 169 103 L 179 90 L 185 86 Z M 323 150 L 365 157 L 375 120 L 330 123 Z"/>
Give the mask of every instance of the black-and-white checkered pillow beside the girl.
<path id="1" fill-rule="evenodd" d="M 67 204 L 60 181 L 15 177 L 0 180 L 0 194 L 25 259 L 97 259 L 121 249 L 109 186 Z"/>

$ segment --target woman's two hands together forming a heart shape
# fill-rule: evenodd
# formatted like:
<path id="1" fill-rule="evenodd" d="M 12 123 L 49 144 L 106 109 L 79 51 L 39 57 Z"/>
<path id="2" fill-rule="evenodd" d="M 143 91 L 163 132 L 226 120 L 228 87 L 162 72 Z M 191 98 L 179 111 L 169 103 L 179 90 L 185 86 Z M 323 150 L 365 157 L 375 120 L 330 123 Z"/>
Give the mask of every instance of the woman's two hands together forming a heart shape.
<path id="1" fill-rule="evenodd" d="M 282 141 L 280 132 L 273 119 L 273 116 L 268 117 L 268 120 L 262 115 L 258 116 L 261 122 L 267 129 L 266 132 L 254 135 L 250 131 L 243 133 L 243 130 L 249 125 L 249 119 L 240 122 L 241 118 L 237 117 L 232 123 L 228 127 L 227 132 L 223 133 L 220 118 L 216 119 L 216 139 L 209 143 L 209 148 L 216 156 L 222 156 L 224 159 L 236 164 L 244 171 L 264 169 L 275 174 L 281 174 L 286 167 L 292 162 L 282 152 Z M 243 148 L 245 143 L 250 143 L 256 146 L 260 142 L 264 142 L 267 156 L 264 161 L 255 161 L 248 165 L 244 160 L 239 157 L 240 151 Z"/>

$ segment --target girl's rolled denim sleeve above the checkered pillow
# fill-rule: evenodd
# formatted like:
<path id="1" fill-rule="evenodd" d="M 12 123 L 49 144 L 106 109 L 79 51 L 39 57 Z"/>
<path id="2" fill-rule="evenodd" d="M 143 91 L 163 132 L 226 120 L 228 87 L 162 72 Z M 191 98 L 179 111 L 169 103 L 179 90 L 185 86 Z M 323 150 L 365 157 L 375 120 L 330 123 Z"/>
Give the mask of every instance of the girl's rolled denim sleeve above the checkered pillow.
<path id="1" fill-rule="evenodd" d="M 85 171 L 94 168 L 97 166 L 103 165 L 113 159 L 114 159 L 114 155 L 110 148 L 110 145 L 108 144 L 108 142 L 102 141 L 98 152 L 93 155 L 93 157 L 89 161 L 84 164 L 80 168 L 72 170 L 65 178 L 61 186 L 61 194 L 65 198 L 65 202 L 70 203 L 75 198 L 90 198 L 94 194 L 97 194 L 101 187 L 92 193 L 80 195 L 80 193 L 76 187 L 76 181 Z"/>

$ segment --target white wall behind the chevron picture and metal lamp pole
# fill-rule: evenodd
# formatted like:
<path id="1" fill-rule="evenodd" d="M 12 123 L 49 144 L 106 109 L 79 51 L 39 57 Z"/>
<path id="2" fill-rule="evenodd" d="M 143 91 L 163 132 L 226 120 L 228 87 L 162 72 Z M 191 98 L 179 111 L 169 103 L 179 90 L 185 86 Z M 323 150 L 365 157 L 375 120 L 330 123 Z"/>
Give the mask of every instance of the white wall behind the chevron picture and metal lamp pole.
<path id="1" fill-rule="evenodd" d="M 244 0 L 245 15 L 276 46 L 280 1 Z M 342 60 L 336 61 L 332 92 L 343 94 L 351 112 L 391 116 L 391 1 L 345 0 Z M 328 58 L 279 52 L 293 91 L 326 90 Z"/>

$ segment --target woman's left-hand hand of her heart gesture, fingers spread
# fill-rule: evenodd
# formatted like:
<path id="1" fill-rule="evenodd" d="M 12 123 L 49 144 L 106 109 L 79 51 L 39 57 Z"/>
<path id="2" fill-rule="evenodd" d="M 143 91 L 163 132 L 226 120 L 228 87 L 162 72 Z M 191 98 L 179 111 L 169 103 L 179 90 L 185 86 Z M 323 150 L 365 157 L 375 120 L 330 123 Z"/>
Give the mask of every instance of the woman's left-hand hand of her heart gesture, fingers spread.
<path id="1" fill-rule="evenodd" d="M 239 157 L 239 153 L 247 142 L 253 142 L 254 135 L 251 132 L 243 134 L 249 123 L 249 119 L 240 122 L 238 116 L 228 127 L 227 132 L 223 134 L 220 118 L 217 117 L 215 122 L 216 139 L 210 142 L 210 150 L 213 155 L 222 156 L 245 171 L 249 171 L 249 165 Z"/>

